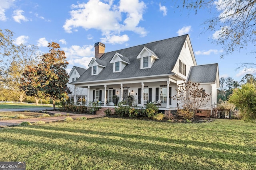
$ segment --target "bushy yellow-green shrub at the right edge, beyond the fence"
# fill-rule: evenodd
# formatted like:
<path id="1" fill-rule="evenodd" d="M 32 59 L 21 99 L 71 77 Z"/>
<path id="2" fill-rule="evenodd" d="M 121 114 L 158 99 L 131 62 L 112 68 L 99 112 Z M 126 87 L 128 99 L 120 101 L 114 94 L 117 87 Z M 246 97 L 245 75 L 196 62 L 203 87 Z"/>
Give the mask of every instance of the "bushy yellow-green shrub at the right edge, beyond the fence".
<path id="1" fill-rule="evenodd" d="M 241 88 L 234 89 L 228 102 L 233 103 L 242 111 L 246 121 L 256 120 L 256 85 L 253 83 L 243 84 Z"/>

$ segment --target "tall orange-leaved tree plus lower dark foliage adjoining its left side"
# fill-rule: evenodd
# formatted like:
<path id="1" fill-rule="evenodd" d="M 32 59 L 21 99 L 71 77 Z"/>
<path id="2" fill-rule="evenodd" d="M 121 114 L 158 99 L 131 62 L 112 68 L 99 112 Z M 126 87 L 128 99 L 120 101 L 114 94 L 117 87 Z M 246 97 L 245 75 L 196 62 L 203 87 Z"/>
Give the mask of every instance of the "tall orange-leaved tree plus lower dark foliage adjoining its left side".
<path id="1" fill-rule="evenodd" d="M 52 98 L 53 109 L 55 109 L 55 101 L 66 97 L 66 84 L 69 78 L 66 72 L 68 62 L 65 52 L 59 49 L 58 43 L 49 43 L 48 47 L 50 53 L 42 55 L 38 66 L 29 67 L 26 70 L 22 88 L 29 95 L 38 95 L 38 92 L 41 92 L 44 96 Z M 34 92 L 30 93 L 29 90 L 34 90 Z"/>

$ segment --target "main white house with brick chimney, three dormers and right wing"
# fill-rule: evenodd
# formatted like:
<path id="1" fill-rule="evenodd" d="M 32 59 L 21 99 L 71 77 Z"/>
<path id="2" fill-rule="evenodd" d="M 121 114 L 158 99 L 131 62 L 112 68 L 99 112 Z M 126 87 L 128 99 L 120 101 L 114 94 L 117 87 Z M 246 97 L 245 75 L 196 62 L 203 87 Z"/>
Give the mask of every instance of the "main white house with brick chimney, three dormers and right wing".
<path id="1" fill-rule="evenodd" d="M 95 57 L 89 68 L 70 83 L 88 89 L 87 102 L 101 101 L 102 107 L 111 107 L 113 95 L 119 101 L 133 95 L 134 105 L 160 101 L 160 110 L 168 112 L 177 107 L 177 101 L 171 99 L 177 85 L 190 80 L 199 82 L 212 95 L 206 109 L 211 110 L 217 103 L 218 64 L 197 66 L 188 35 L 108 53 L 103 43 L 94 47 Z"/>

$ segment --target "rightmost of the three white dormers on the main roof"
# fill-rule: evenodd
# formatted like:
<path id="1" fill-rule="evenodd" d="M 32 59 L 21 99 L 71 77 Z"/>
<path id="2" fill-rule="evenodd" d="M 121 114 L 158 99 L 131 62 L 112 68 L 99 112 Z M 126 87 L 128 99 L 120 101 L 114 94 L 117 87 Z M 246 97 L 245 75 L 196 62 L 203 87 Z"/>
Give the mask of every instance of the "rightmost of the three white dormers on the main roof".
<path id="1" fill-rule="evenodd" d="M 143 47 L 136 59 L 140 59 L 140 69 L 151 68 L 156 60 L 158 60 L 157 55 L 148 49 Z"/>

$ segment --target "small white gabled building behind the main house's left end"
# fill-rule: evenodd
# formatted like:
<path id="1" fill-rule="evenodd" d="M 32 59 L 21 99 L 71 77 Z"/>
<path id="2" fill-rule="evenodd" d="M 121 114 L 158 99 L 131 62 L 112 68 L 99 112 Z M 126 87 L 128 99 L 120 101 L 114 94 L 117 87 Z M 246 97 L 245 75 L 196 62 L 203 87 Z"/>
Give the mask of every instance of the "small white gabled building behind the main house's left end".
<path id="1" fill-rule="evenodd" d="M 78 78 L 85 71 L 86 71 L 85 68 L 73 66 L 72 70 L 69 73 L 69 81 L 68 81 L 67 87 L 70 89 L 70 92 L 72 92 L 72 94 L 68 94 L 68 99 L 71 102 L 74 102 L 75 96 L 76 96 L 75 103 L 78 101 L 81 101 L 82 99 L 85 99 L 85 100 L 88 99 L 87 98 L 87 94 L 88 94 L 87 88 L 76 88 L 75 85 L 70 84 L 71 82 L 78 80 Z"/>

